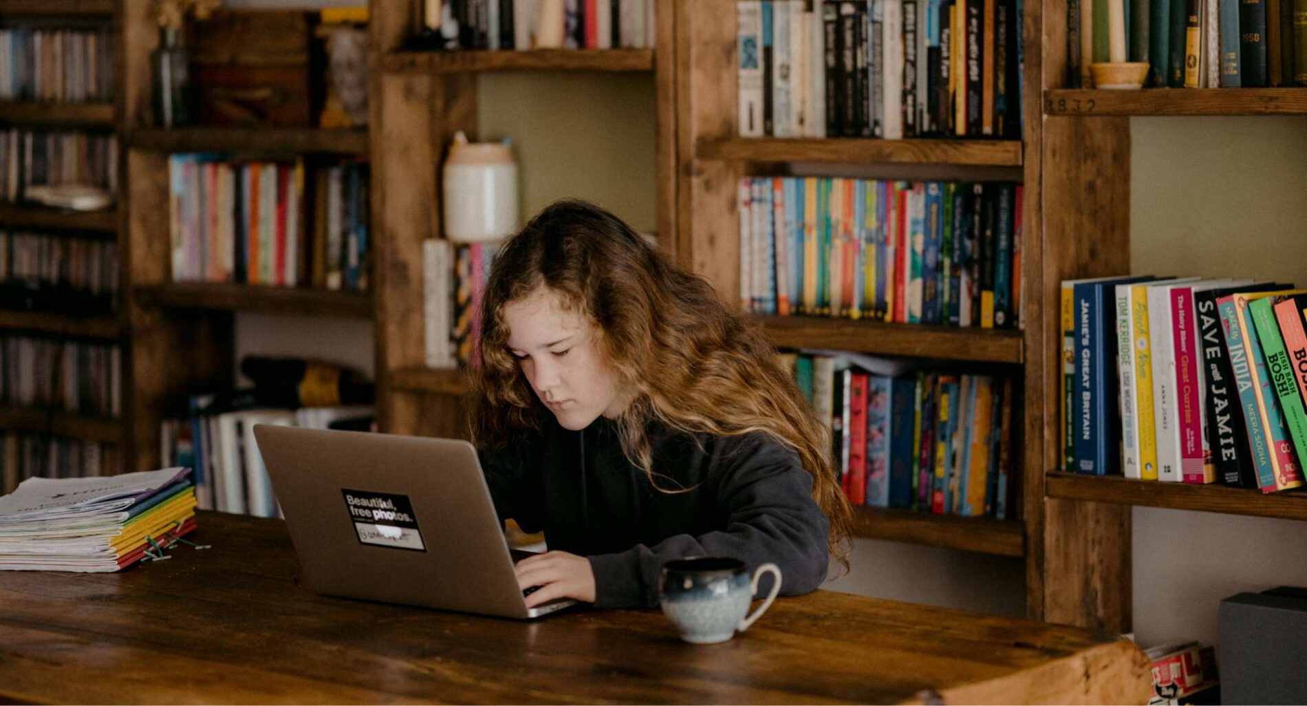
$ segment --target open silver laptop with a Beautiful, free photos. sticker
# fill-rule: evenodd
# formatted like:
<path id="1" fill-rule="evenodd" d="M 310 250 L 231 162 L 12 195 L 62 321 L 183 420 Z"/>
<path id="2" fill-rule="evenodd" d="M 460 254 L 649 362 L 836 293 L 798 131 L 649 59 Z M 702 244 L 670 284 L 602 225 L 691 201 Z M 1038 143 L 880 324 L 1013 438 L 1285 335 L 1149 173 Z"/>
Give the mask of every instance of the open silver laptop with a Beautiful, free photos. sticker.
<path id="1" fill-rule="evenodd" d="M 514 618 L 576 603 L 527 608 L 471 443 L 264 424 L 254 435 L 314 591 Z"/>

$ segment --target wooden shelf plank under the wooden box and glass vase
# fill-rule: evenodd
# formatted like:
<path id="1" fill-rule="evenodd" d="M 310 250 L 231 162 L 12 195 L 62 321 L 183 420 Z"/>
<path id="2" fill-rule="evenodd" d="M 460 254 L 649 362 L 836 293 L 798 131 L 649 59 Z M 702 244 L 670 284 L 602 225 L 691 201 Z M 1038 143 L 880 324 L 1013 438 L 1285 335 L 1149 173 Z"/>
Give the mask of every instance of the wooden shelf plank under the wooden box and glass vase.
<path id="1" fill-rule="evenodd" d="M 344 128 L 188 127 L 136 128 L 128 136 L 135 149 L 152 152 L 265 152 L 366 154 L 367 131 Z"/>

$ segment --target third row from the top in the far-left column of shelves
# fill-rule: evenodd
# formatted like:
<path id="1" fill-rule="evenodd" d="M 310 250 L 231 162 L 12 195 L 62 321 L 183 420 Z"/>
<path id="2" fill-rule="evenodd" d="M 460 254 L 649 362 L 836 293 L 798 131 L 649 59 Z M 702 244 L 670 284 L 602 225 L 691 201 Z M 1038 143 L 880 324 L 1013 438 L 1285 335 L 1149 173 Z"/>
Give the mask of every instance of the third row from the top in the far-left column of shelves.
<path id="1" fill-rule="evenodd" d="M 0 307 L 108 314 L 118 307 L 118 243 L 0 230 Z"/>

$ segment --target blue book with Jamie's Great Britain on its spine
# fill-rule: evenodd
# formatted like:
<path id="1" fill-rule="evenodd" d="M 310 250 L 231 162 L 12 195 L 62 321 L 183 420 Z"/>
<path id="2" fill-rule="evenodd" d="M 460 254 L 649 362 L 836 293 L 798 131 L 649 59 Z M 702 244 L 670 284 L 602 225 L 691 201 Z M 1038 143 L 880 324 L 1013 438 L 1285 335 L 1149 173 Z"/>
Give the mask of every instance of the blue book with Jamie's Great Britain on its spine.
<path id="1" fill-rule="evenodd" d="M 1076 435 L 1074 468 L 1080 473 L 1120 473 L 1115 286 L 1153 278 L 1119 277 L 1072 288 L 1076 310 L 1076 418 L 1072 428 Z"/>

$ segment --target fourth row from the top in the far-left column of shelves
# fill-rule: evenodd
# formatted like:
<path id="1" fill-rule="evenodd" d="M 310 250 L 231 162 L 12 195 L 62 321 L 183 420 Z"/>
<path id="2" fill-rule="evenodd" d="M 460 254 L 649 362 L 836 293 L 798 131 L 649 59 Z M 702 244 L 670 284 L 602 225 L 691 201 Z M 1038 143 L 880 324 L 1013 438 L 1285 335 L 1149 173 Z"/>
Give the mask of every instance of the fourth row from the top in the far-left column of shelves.
<path id="1" fill-rule="evenodd" d="M 122 379 L 118 345 L 0 336 L 0 404 L 118 417 Z"/>

